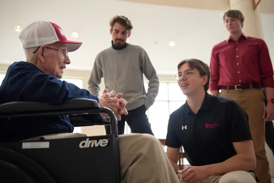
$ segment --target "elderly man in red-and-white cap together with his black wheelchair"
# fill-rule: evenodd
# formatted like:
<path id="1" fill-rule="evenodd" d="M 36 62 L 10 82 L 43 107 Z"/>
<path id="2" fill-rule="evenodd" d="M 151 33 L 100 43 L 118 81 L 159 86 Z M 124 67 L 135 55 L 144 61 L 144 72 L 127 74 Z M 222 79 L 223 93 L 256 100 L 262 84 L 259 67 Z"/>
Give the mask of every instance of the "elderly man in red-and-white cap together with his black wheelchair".
<path id="1" fill-rule="evenodd" d="M 82 43 L 47 21 L 31 23 L 19 38 L 26 62 L 10 65 L 0 86 L 1 182 L 180 182 L 153 135 L 118 136 L 117 119 L 127 114 L 121 93 L 98 98 L 60 80 L 68 52 Z M 72 133 L 105 124 L 111 135 Z"/>

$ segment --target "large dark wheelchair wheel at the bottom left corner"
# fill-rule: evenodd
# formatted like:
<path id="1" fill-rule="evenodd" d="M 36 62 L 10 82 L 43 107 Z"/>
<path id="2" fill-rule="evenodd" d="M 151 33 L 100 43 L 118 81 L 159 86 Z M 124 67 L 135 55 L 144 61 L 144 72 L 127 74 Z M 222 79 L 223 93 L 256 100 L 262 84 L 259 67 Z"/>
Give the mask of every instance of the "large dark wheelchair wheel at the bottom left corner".
<path id="1" fill-rule="evenodd" d="M 40 165 L 13 150 L 0 147 L 1 183 L 55 183 Z"/>

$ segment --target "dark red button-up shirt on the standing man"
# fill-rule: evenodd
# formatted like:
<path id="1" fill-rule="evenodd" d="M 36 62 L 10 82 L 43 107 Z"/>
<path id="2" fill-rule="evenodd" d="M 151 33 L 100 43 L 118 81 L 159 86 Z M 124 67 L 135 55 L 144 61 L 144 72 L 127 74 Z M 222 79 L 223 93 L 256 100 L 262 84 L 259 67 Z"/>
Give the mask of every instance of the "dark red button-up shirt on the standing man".
<path id="1" fill-rule="evenodd" d="M 264 40 L 248 37 L 216 44 L 210 58 L 209 90 L 237 84 L 262 84 L 274 88 L 273 68 Z"/>

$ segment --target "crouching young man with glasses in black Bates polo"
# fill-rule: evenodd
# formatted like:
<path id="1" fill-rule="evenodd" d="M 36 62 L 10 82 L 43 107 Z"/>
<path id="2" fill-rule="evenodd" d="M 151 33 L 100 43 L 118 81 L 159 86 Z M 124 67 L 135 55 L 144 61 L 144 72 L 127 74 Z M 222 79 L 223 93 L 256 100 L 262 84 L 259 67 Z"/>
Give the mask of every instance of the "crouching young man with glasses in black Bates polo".
<path id="1" fill-rule="evenodd" d="M 183 60 L 176 75 L 187 101 L 174 111 L 167 128 L 167 157 L 178 171 L 180 146 L 191 166 L 182 182 L 256 182 L 256 158 L 248 115 L 231 99 L 212 96 L 209 66 L 197 59 Z"/>

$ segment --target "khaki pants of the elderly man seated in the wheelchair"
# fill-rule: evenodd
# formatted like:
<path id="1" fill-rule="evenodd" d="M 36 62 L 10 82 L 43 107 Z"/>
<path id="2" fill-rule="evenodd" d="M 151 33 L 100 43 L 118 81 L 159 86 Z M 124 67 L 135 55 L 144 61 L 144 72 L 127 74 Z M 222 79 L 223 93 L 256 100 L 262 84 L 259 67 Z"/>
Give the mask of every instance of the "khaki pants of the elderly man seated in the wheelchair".
<path id="1" fill-rule="evenodd" d="M 85 137 L 81 133 L 41 136 L 43 139 Z M 27 140 L 39 140 L 34 137 Z M 24 140 L 26 141 L 26 140 Z M 163 146 L 149 134 L 119 135 L 121 183 L 180 183 Z"/>

